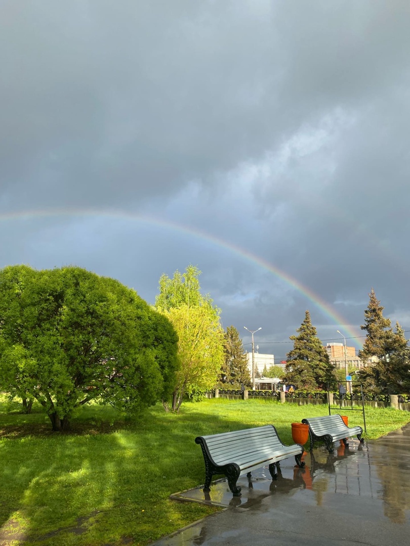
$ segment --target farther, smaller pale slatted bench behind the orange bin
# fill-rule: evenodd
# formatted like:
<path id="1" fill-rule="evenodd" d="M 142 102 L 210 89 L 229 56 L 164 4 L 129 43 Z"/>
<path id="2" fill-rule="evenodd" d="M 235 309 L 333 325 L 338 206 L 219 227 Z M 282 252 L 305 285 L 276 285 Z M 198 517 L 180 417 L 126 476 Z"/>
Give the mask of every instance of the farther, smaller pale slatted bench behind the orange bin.
<path id="1" fill-rule="evenodd" d="M 326 449 L 329 453 L 333 453 L 333 442 L 343 440 L 345 446 L 348 446 L 347 438 L 357 436 L 361 443 L 364 443 L 361 435 L 363 429 L 361 426 L 353 426 L 350 428 L 344 424 L 344 421 L 339 414 L 326 415 L 323 417 L 311 417 L 302 419 L 302 423 L 309 425 L 309 437 L 311 439 L 311 449 L 315 442 L 325 442 Z"/>

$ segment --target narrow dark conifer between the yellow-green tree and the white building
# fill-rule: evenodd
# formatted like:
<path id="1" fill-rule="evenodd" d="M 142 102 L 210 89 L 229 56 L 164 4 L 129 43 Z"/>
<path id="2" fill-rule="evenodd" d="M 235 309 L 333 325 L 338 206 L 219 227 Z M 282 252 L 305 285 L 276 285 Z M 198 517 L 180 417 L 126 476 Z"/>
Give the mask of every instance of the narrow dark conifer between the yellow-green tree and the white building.
<path id="1" fill-rule="evenodd" d="M 221 372 L 221 383 L 240 387 L 250 387 L 250 375 L 247 358 L 243 351 L 242 340 L 235 326 L 226 328 L 224 334 L 224 365 Z"/>

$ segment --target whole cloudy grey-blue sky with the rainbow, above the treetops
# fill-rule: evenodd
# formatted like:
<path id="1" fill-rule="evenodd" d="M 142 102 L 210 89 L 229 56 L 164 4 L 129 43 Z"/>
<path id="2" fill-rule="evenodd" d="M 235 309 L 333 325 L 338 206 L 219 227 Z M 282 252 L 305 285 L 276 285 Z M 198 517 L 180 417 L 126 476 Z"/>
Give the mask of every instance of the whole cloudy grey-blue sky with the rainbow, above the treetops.
<path id="1" fill-rule="evenodd" d="M 407 0 L 3 0 L 0 266 L 154 303 L 197 265 L 278 359 L 306 309 L 359 348 L 371 287 L 410 330 L 409 28 Z"/>

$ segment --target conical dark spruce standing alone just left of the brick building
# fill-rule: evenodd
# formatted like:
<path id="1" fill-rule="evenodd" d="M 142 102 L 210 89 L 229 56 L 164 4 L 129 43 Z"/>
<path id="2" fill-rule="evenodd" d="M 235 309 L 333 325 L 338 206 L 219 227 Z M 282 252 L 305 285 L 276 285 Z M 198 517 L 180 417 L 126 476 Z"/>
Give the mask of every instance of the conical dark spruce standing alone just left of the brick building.
<path id="1" fill-rule="evenodd" d="M 335 366 L 317 336 L 309 311 L 306 311 L 304 321 L 296 331 L 297 336 L 290 336 L 294 348 L 286 355 L 285 381 L 308 390 L 324 388 L 327 383 L 333 383 Z"/>

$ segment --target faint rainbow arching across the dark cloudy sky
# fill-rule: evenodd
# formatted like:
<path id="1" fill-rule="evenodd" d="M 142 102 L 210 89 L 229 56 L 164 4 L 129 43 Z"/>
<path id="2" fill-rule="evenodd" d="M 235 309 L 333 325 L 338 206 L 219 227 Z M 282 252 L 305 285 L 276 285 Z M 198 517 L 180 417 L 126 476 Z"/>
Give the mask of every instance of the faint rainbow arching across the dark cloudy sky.
<path id="1" fill-rule="evenodd" d="M 349 336 L 346 336 L 347 338 L 353 338 L 356 339 L 358 337 L 361 337 L 361 333 L 359 331 L 355 331 L 355 329 L 349 325 L 345 324 L 345 319 L 336 312 L 330 304 L 328 304 L 326 301 L 324 301 L 318 294 L 313 292 L 310 288 L 303 286 L 299 281 L 296 280 L 296 278 L 292 277 L 285 271 L 282 271 L 281 269 L 277 268 L 276 265 L 271 264 L 270 262 L 267 262 L 267 260 L 264 260 L 263 258 L 256 256 L 256 254 L 253 254 L 244 248 L 241 248 L 237 245 L 232 244 L 231 242 L 227 242 L 224 239 L 220 239 L 218 237 L 215 237 L 214 235 L 211 235 L 207 232 L 203 232 L 200 229 L 188 227 L 183 224 L 179 224 L 177 222 L 173 222 L 170 220 L 164 220 L 161 218 L 155 218 L 153 216 L 145 216 L 140 215 L 137 213 L 131 213 L 124 210 L 111 210 L 111 209 L 45 209 L 45 210 L 33 210 L 33 211 L 20 211 L 20 212 L 9 212 L 9 213 L 2 213 L 0 214 L 0 221 L 2 222 L 10 222 L 10 221 L 18 221 L 18 220 L 31 220 L 36 218 L 47 218 L 47 217 L 96 217 L 96 218 L 114 218 L 114 219 L 121 219 L 121 220 L 129 220 L 133 222 L 140 222 L 143 224 L 153 225 L 155 227 L 161 227 L 165 229 L 171 229 L 176 233 L 183 233 L 188 234 L 196 239 L 200 239 L 202 241 L 210 242 L 212 245 L 224 248 L 231 252 L 232 254 L 236 254 L 237 256 L 247 260 L 248 262 L 251 262 L 253 264 L 256 264 L 257 266 L 269 271 L 274 276 L 278 277 L 280 280 L 288 284 L 288 286 L 294 288 L 302 294 L 306 299 L 311 301 L 315 307 L 317 307 L 322 314 L 324 314 L 326 317 L 330 318 L 332 322 L 335 323 L 335 330 L 337 328 L 341 328 L 341 325 L 343 325 L 343 329 L 349 334 Z M 356 342 L 358 342 L 356 340 Z"/>

